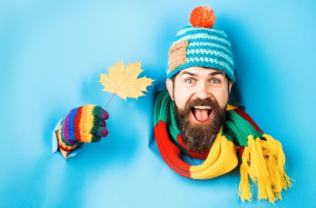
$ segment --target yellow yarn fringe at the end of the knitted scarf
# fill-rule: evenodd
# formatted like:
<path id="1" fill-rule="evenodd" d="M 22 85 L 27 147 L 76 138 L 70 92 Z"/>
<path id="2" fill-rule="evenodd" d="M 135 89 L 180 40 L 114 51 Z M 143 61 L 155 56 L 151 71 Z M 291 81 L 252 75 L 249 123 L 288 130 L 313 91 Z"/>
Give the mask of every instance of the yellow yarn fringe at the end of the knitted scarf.
<path id="1" fill-rule="evenodd" d="M 262 138 L 248 136 L 248 146 L 242 154 L 240 165 L 241 180 L 239 192 L 241 200 L 251 201 L 249 178 L 257 184 L 258 200 L 268 199 L 271 203 L 282 199 L 281 192 L 292 186 L 285 173 L 285 155 L 281 143 L 268 134 Z"/>

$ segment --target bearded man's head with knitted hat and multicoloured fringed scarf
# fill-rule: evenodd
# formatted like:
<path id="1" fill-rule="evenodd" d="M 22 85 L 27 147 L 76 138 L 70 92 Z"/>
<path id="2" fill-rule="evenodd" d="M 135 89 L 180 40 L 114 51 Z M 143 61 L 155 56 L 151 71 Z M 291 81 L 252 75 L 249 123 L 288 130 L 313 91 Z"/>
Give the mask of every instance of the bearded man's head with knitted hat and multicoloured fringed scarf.
<path id="1" fill-rule="evenodd" d="M 162 158 L 181 176 L 210 179 L 238 165 L 238 150 L 241 199 L 251 200 L 250 177 L 257 183 L 258 198 L 274 203 L 282 189 L 292 186 L 282 146 L 244 111 L 228 104 L 234 58 L 228 35 L 214 26 L 213 10 L 195 8 L 190 23 L 169 50 L 167 89 L 155 100 L 154 134 Z M 181 154 L 203 162 L 188 164 Z"/>

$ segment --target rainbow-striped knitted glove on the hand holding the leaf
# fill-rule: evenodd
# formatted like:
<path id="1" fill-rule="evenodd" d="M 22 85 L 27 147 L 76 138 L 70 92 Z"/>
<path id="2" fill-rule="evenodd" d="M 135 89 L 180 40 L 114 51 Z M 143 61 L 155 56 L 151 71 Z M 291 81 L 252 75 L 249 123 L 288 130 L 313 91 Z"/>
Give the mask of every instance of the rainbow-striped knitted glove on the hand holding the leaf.
<path id="1" fill-rule="evenodd" d="M 74 150 L 80 142 L 97 142 L 108 135 L 109 118 L 99 106 L 86 105 L 73 109 L 66 116 L 57 133 L 58 145 L 64 151 Z"/>

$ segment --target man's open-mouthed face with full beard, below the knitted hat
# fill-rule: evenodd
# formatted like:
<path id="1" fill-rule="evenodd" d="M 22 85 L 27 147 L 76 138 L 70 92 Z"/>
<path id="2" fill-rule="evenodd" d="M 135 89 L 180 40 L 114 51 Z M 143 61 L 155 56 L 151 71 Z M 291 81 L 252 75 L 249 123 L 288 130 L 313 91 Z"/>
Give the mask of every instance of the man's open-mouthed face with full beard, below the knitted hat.
<path id="1" fill-rule="evenodd" d="M 204 152 L 219 133 L 233 82 L 219 70 L 190 67 L 167 79 L 179 130 L 191 151 Z"/>

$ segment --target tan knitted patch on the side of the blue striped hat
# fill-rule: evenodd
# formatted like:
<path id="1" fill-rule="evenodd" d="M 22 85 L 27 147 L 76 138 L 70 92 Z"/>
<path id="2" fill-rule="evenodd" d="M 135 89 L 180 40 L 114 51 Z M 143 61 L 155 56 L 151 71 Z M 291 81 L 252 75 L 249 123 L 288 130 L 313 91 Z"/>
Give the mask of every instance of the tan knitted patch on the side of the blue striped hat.
<path id="1" fill-rule="evenodd" d="M 189 41 L 183 40 L 174 43 L 169 50 L 169 71 L 173 72 L 177 67 L 187 61 L 187 46 Z"/>

